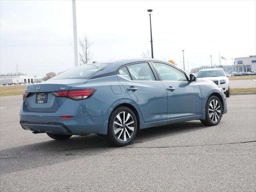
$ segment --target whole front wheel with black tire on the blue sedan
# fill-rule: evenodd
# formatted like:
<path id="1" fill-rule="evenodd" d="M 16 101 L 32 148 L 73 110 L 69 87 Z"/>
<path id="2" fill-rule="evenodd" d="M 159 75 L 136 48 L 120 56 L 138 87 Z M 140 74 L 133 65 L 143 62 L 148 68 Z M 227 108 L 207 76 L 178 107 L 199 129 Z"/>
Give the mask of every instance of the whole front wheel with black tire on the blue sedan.
<path id="1" fill-rule="evenodd" d="M 216 104 L 216 108 L 212 108 L 212 103 L 214 101 L 218 101 L 218 103 Z M 219 107 L 218 107 L 219 106 Z M 210 110 L 209 110 L 210 108 Z M 219 111 L 220 109 L 220 111 Z M 213 111 L 211 114 L 209 113 L 209 111 Z M 202 124 L 206 125 L 206 126 L 215 126 L 218 125 L 218 123 L 220 122 L 221 118 L 222 118 L 222 104 L 220 102 L 220 99 L 216 96 L 210 96 L 210 98 L 208 98 L 207 102 L 206 102 L 206 107 L 205 107 L 205 115 L 206 118 L 205 120 L 201 120 Z M 217 118 L 219 116 L 219 118 Z"/>

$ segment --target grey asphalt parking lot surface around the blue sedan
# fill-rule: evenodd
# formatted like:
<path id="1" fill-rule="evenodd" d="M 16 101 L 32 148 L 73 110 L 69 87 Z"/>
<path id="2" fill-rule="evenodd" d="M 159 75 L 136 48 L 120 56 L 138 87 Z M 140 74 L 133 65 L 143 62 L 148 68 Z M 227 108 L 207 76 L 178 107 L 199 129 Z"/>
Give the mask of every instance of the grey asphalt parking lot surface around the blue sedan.
<path id="1" fill-rule="evenodd" d="M 114 148 L 96 134 L 66 141 L 19 124 L 22 96 L 0 98 L 0 191 L 255 191 L 256 95 L 230 96 L 218 126 L 141 130 Z"/>

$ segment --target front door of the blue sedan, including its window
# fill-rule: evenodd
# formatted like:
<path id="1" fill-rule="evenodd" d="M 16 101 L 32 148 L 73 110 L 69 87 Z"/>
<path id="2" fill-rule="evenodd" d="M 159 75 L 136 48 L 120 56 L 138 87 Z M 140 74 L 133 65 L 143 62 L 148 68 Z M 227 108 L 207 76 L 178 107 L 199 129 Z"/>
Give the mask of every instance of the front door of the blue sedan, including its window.
<path id="1" fill-rule="evenodd" d="M 199 85 L 188 81 L 184 72 L 170 64 L 152 63 L 168 94 L 167 118 L 175 119 L 202 114 Z"/>

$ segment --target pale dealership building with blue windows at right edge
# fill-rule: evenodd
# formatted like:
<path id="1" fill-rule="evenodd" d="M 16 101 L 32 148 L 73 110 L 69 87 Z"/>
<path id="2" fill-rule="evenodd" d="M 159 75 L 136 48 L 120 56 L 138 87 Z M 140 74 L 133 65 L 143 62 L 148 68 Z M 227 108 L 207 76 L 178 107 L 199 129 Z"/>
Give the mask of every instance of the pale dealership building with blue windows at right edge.
<path id="1" fill-rule="evenodd" d="M 256 55 L 235 58 L 234 67 L 235 71 L 256 71 Z"/>

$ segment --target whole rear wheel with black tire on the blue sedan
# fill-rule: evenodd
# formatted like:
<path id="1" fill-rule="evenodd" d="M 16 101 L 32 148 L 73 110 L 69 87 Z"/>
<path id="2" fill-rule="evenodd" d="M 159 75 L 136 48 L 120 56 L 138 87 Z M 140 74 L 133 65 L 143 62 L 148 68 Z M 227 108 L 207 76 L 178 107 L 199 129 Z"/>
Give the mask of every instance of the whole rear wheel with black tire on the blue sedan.
<path id="1" fill-rule="evenodd" d="M 128 114 L 130 114 L 130 116 Z M 135 138 L 137 127 L 136 116 L 130 108 L 125 106 L 116 108 L 112 111 L 108 120 L 108 142 L 114 146 L 128 145 Z"/>

